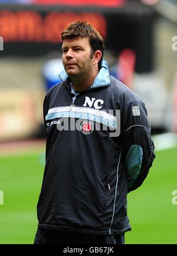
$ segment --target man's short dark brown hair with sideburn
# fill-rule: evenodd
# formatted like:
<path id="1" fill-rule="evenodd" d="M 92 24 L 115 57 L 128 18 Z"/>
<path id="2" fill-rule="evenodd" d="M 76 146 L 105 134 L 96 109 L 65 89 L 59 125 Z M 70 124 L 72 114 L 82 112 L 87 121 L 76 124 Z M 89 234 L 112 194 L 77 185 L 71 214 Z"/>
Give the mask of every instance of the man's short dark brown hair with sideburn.
<path id="1" fill-rule="evenodd" d="M 61 33 L 61 39 L 72 39 L 75 37 L 87 37 L 91 46 L 91 57 L 93 57 L 96 50 L 100 50 L 102 56 L 99 61 L 99 68 L 101 60 L 104 56 L 104 40 L 99 31 L 91 26 L 87 21 L 74 21 L 69 24 L 67 28 Z"/>

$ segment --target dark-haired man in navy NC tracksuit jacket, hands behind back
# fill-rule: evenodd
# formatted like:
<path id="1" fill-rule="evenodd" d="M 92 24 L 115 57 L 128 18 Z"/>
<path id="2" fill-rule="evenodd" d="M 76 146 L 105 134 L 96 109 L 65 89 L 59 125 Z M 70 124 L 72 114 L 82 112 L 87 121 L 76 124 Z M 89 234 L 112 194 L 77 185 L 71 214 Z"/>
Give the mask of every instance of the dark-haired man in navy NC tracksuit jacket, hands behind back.
<path id="1" fill-rule="evenodd" d="M 76 21 L 61 33 L 63 82 L 44 100 L 46 164 L 35 244 L 123 244 L 127 193 L 155 158 L 142 100 L 109 75 L 104 42 Z M 74 126 L 73 126 L 74 124 Z"/>

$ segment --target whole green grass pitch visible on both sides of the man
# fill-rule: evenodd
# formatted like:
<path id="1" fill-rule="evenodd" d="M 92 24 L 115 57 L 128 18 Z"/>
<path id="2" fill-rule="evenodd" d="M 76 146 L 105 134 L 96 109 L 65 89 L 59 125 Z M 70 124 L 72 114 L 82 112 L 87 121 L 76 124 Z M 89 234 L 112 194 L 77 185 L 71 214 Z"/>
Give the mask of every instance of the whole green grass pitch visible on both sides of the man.
<path id="1" fill-rule="evenodd" d="M 177 148 L 156 152 L 148 178 L 129 194 L 132 232 L 126 233 L 126 244 L 177 244 L 177 204 L 172 204 L 172 191 L 177 190 L 176 155 Z M 44 152 L 1 156 L 0 168 L 0 191 L 4 195 L 0 244 L 32 244 Z"/>

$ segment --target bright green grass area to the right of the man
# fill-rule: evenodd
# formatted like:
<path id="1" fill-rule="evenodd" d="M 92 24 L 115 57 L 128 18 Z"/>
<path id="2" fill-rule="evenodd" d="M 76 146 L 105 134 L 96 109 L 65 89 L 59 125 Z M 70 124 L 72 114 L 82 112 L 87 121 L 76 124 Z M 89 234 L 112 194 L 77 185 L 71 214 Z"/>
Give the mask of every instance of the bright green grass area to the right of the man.
<path id="1" fill-rule="evenodd" d="M 156 159 L 142 187 L 128 196 L 132 232 L 127 244 L 177 244 L 177 148 L 156 152 Z"/>

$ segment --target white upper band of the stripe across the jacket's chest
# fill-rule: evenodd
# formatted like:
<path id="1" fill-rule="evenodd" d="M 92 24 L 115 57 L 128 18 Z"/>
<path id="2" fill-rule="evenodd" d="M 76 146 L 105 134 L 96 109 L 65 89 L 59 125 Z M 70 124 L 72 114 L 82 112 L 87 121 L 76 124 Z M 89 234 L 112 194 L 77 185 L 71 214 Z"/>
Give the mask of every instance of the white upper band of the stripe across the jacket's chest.
<path id="1" fill-rule="evenodd" d="M 50 108 L 48 110 L 48 114 L 51 113 L 60 113 L 60 112 L 76 112 L 76 113 L 87 113 L 87 114 L 94 114 L 95 116 L 103 117 L 113 123 L 116 123 L 116 116 L 113 114 L 107 113 L 103 110 L 97 110 L 95 108 L 88 108 L 88 107 L 71 107 L 71 106 L 64 106 L 64 107 L 55 107 Z"/>

